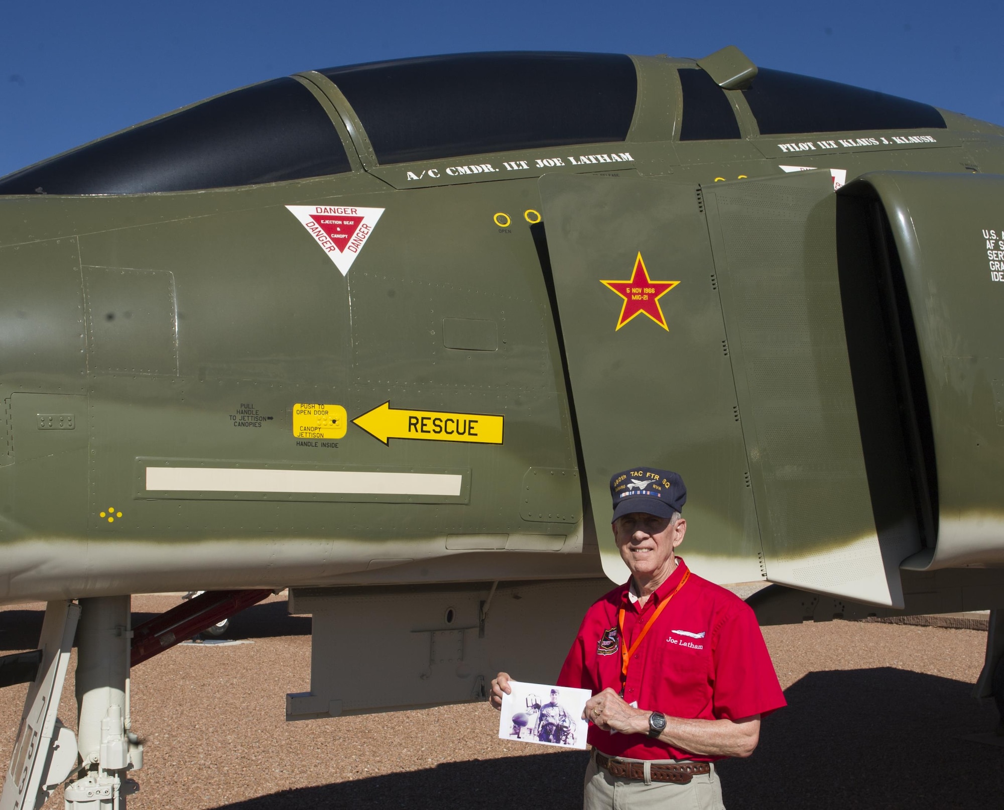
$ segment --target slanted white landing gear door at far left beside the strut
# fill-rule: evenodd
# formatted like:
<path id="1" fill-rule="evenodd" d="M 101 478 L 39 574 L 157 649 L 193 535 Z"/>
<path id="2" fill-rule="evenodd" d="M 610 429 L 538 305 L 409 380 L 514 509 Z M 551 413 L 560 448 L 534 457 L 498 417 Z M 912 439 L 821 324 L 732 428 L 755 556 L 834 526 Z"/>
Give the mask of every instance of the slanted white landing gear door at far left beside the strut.
<path id="1" fill-rule="evenodd" d="M 41 807 L 76 763 L 73 732 L 56 719 L 56 712 L 79 616 L 80 607 L 72 602 L 49 602 L 45 607 L 38 639 L 42 659 L 24 698 L 0 810 Z"/>

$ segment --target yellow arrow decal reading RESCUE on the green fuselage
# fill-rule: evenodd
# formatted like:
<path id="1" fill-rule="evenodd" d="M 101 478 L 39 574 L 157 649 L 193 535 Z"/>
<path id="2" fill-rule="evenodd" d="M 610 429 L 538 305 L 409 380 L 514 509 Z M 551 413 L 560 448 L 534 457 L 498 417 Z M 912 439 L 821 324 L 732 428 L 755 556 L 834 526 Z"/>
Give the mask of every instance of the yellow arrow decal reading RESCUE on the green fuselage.
<path id="1" fill-rule="evenodd" d="M 487 413 L 405 410 L 388 400 L 352 422 L 385 444 L 389 439 L 502 443 L 503 417 Z"/>

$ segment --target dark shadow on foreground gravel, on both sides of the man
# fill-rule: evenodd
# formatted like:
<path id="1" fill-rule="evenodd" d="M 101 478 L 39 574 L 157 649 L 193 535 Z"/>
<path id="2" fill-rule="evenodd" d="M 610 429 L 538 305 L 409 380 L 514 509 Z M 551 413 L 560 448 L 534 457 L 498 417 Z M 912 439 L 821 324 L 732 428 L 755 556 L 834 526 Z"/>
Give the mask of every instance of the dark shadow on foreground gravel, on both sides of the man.
<path id="1" fill-rule="evenodd" d="M 884 667 L 812 672 L 764 721 L 748 760 L 721 766 L 729 810 L 1004 807 L 1001 750 L 959 739 L 994 718 L 972 684 Z M 220 810 L 541 807 L 577 810 L 587 755 L 446 763 L 282 791 Z"/>

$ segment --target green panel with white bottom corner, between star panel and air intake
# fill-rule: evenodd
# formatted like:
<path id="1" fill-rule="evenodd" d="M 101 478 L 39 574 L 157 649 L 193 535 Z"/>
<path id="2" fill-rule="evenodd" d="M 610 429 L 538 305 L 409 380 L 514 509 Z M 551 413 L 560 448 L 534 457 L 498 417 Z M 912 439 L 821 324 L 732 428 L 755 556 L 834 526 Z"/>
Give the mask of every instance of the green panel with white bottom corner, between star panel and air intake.
<path id="1" fill-rule="evenodd" d="M 767 578 L 903 606 L 905 533 L 875 528 L 827 172 L 704 189 Z"/>

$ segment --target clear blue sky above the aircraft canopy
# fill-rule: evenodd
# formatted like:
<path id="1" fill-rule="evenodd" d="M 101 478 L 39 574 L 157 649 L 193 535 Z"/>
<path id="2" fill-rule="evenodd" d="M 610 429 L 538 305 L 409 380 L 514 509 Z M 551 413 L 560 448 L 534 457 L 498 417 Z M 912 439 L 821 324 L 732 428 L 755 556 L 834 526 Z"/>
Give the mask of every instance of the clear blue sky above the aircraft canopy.
<path id="1" fill-rule="evenodd" d="M 735 44 L 768 67 L 1004 124 L 1002 32 L 1001 0 L 0 0 L 0 175 L 254 81 L 468 50 Z"/>

